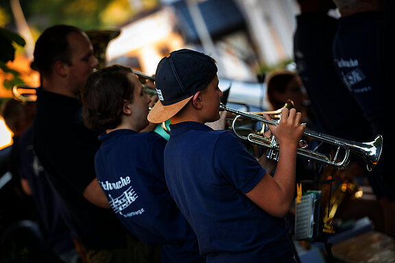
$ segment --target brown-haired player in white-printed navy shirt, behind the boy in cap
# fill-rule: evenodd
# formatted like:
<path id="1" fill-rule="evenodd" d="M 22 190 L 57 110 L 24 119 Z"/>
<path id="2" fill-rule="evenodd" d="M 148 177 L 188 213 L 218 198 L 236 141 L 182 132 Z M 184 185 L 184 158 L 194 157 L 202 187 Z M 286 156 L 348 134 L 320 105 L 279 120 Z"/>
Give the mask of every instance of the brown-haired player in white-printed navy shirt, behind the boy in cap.
<path id="1" fill-rule="evenodd" d="M 84 123 L 99 136 L 95 171 L 112 210 L 136 238 L 160 246 L 161 261 L 204 262 L 196 236 L 169 194 L 163 172 L 167 140 L 140 132 L 149 124 L 151 99 L 131 68 L 94 72 L 82 91 Z"/>

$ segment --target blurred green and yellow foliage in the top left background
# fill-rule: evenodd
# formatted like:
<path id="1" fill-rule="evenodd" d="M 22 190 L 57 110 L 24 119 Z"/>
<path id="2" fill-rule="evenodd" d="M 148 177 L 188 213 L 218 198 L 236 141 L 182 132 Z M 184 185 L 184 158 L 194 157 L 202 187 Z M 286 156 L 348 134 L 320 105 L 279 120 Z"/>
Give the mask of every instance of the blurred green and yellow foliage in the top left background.
<path id="1" fill-rule="evenodd" d="M 100 29 L 120 27 L 142 10 L 154 8 L 159 0 L 141 0 L 142 10 L 136 10 L 133 1 L 129 0 L 34 0 L 22 1 L 21 7 L 32 32 L 40 34 L 51 25 L 75 25 L 81 29 Z M 10 1 L 0 0 L 0 73 L 10 73 L 12 79 L 3 84 L 12 88 L 21 84 L 20 73 L 6 66 L 8 61 L 14 61 L 16 45 L 25 46 L 21 36 L 8 31 L 5 27 L 13 27 Z"/>

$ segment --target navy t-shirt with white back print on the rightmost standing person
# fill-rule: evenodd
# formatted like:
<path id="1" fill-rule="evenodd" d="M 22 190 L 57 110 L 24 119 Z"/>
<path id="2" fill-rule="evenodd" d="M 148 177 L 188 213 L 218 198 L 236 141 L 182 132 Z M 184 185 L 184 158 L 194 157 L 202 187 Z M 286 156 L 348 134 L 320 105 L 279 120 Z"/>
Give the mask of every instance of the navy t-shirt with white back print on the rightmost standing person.
<path id="1" fill-rule="evenodd" d="M 390 87 L 383 86 L 377 48 L 381 16 L 380 12 L 365 12 L 339 18 L 333 42 L 337 73 L 371 123 L 383 114 L 389 116 L 385 95 L 390 95 Z M 374 126 L 373 131 L 377 132 Z"/>

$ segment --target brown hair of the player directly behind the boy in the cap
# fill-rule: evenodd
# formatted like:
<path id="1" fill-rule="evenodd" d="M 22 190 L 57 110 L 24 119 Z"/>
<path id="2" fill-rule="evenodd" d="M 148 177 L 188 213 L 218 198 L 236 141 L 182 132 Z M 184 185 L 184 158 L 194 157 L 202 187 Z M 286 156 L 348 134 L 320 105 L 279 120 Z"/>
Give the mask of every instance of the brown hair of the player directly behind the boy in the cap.
<path id="1" fill-rule="evenodd" d="M 115 129 L 122 121 L 123 100 L 133 102 L 132 68 L 112 65 L 93 72 L 82 89 L 84 123 L 89 129 Z"/>

